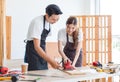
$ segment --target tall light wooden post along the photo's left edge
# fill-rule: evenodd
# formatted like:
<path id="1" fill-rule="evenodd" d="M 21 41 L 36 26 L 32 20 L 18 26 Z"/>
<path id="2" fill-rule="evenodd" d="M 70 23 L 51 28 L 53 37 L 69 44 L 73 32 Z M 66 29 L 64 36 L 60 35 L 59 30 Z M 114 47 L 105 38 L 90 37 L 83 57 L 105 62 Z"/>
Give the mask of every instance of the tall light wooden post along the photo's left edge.
<path id="1" fill-rule="evenodd" d="M 5 0 L 0 0 L 0 66 L 4 59 Z"/>

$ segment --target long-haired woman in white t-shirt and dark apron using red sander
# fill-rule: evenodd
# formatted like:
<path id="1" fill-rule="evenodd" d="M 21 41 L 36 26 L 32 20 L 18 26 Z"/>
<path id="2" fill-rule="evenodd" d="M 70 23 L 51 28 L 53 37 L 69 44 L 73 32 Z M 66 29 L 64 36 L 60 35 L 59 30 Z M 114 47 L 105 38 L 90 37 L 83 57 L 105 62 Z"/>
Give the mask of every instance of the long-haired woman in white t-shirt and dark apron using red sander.
<path id="1" fill-rule="evenodd" d="M 58 51 L 63 62 L 71 62 L 74 67 L 82 65 L 82 31 L 77 27 L 77 19 L 69 17 L 66 28 L 58 32 Z"/>

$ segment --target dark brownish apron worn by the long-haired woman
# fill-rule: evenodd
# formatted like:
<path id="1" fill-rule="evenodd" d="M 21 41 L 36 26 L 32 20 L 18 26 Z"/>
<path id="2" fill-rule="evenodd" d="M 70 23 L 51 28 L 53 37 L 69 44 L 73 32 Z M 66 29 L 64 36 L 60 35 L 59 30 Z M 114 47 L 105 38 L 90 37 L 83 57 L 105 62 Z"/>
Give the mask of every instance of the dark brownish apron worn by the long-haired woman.
<path id="1" fill-rule="evenodd" d="M 73 47 L 73 43 L 69 42 L 68 34 L 67 36 L 67 43 L 63 49 L 66 56 L 73 62 L 76 54 L 76 49 Z M 80 55 L 78 57 L 78 60 L 76 61 L 75 67 L 81 67 L 82 66 L 82 49 L 80 50 Z"/>

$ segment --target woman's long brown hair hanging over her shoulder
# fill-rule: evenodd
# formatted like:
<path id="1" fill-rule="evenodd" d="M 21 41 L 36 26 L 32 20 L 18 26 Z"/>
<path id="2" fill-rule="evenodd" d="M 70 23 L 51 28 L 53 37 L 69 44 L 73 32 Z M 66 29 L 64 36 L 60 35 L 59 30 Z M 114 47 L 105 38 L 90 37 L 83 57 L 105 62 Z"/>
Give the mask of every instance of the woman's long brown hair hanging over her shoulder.
<path id="1" fill-rule="evenodd" d="M 69 18 L 67 19 L 67 21 L 66 21 L 66 25 L 67 25 L 67 24 L 73 24 L 73 25 L 76 25 L 76 26 L 77 26 L 77 18 L 76 18 L 76 17 L 73 17 L 73 16 L 69 17 Z M 73 34 L 72 34 L 72 36 L 73 36 L 73 43 L 74 43 L 73 47 L 74 47 L 74 48 L 76 48 L 76 47 L 77 47 L 77 44 L 78 44 L 78 32 L 79 32 L 79 28 L 77 28 L 77 29 L 73 32 Z"/>

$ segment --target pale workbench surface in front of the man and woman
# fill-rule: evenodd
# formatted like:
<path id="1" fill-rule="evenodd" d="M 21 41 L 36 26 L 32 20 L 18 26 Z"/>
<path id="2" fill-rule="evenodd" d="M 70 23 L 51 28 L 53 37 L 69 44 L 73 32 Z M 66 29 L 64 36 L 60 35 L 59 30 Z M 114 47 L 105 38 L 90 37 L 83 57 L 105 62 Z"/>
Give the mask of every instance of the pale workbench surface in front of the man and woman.
<path id="1" fill-rule="evenodd" d="M 37 82 L 84 82 L 86 80 L 97 79 L 96 82 L 99 82 L 100 78 L 108 78 L 114 76 L 120 76 L 120 72 L 114 74 L 107 74 L 104 72 L 96 72 L 89 67 L 78 68 L 81 72 L 85 74 L 81 75 L 69 75 L 58 69 L 49 69 L 49 70 L 39 70 L 39 71 L 29 71 L 28 78 L 32 77 L 40 78 Z M 34 76 L 35 75 L 35 76 Z M 11 81 L 1 81 L 1 82 L 11 82 Z M 30 81 L 17 81 L 17 82 L 30 82 Z M 106 81 L 107 82 L 107 81 Z"/>

